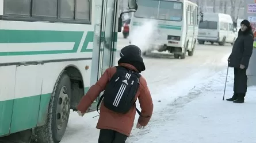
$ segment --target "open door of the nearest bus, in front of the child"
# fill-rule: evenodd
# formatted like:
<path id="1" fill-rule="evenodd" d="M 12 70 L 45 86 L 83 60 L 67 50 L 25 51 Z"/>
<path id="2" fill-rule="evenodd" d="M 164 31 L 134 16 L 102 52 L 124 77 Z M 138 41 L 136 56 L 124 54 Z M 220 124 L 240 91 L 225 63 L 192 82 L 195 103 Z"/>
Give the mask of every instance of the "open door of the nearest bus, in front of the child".
<path id="1" fill-rule="evenodd" d="M 112 66 L 114 53 L 114 29 L 116 27 L 117 0 L 95 1 L 94 49 L 91 71 L 91 85 L 100 79 L 108 67 Z M 97 75 L 96 75 L 97 74 Z M 97 108 L 98 100 L 89 110 Z"/>

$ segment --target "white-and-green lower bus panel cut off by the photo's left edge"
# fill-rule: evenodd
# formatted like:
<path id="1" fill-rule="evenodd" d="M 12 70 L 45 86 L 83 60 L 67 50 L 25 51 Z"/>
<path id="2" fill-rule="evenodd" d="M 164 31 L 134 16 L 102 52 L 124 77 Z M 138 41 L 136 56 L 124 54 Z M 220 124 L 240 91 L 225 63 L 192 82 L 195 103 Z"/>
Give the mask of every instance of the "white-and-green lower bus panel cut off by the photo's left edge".
<path id="1" fill-rule="evenodd" d="M 10 132 L 16 66 L 0 67 L 0 137 Z"/>

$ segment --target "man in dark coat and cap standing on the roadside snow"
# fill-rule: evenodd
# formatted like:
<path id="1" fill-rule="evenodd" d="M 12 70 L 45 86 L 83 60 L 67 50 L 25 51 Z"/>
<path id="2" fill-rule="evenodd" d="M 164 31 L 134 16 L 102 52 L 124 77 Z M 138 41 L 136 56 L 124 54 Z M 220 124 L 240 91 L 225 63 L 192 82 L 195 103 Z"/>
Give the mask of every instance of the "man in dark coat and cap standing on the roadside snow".
<path id="1" fill-rule="evenodd" d="M 234 43 L 228 66 L 234 67 L 234 95 L 227 101 L 243 103 L 247 92 L 246 70 L 249 65 L 251 54 L 253 53 L 254 34 L 250 22 L 243 20 L 238 31 L 238 38 Z"/>

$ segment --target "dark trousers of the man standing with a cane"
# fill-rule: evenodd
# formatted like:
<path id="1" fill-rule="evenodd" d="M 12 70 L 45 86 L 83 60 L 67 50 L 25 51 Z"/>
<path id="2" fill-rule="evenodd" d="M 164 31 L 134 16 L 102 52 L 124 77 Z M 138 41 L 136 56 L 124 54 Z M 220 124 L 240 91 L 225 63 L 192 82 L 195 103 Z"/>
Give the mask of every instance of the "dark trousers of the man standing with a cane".
<path id="1" fill-rule="evenodd" d="M 247 92 L 246 69 L 234 68 L 234 93 L 245 94 Z"/>

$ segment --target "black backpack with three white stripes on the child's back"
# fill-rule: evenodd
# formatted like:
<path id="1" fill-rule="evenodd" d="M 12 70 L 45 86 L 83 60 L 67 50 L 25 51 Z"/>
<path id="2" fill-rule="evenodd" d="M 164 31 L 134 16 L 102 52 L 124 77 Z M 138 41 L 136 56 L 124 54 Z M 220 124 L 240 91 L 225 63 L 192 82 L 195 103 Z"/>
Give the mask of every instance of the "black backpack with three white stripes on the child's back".
<path id="1" fill-rule="evenodd" d="M 105 91 L 98 101 L 97 111 L 102 98 L 104 106 L 117 113 L 125 114 L 135 104 L 135 96 L 139 89 L 141 75 L 123 66 L 116 66 L 116 68 L 116 73 L 106 85 Z M 137 108 L 136 110 L 141 116 L 139 110 Z"/>

